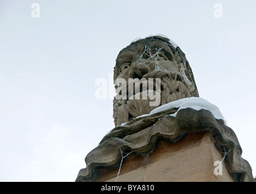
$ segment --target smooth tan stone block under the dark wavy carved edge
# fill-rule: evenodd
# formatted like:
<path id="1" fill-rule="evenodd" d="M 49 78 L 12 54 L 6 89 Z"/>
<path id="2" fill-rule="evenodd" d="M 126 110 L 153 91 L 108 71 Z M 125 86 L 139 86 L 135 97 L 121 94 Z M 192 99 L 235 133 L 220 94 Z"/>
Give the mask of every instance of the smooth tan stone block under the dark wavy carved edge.
<path id="1" fill-rule="evenodd" d="M 190 133 L 181 141 L 171 143 L 159 140 L 153 153 L 123 158 L 114 169 L 97 170 L 95 181 L 232 181 L 223 161 L 223 175 L 215 175 L 215 161 L 223 153 L 215 146 L 210 133 Z"/>

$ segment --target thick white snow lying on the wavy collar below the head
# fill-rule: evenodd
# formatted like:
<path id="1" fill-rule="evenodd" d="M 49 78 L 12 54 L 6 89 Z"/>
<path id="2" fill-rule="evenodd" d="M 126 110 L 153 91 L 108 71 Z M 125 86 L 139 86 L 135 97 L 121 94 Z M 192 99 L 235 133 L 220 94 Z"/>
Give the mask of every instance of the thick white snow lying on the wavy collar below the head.
<path id="1" fill-rule="evenodd" d="M 179 110 L 191 108 L 194 110 L 201 110 L 206 109 L 209 110 L 216 119 L 223 119 L 225 125 L 227 125 L 224 116 L 221 114 L 220 109 L 216 107 L 216 105 L 210 103 L 206 99 L 199 98 L 199 97 L 190 97 L 190 98 L 182 98 L 177 101 L 169 102 L 168 104 L 161 105 L 156 109 L 152 110 L 148 115 L 153 115 L 154 113 L 162 112 L 164 110 L 179 108 L 176 113 L 171 114 L 170 116 L 175 117 Z M 148 116 L 148 115 L 141 115 L 139 117 Z"/>

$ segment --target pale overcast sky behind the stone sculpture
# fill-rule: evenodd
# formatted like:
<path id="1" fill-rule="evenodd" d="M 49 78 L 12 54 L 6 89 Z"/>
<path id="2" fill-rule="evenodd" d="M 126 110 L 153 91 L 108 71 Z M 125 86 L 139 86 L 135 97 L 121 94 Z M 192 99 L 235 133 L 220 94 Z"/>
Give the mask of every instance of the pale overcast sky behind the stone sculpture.
<path id="1" fill-rule="evenodd" d="M 216 3 L 223 18 L 214 16 Z M 1 0 L 0 181 L 75 181 L 114 128 L 112 98 L 97 100 L 95 81 L 108 81 L 131 41 L 156 34 L 185 53 L 200 97 L 219 107 L 256 176 L 255 7 L 254 0 Z"/>

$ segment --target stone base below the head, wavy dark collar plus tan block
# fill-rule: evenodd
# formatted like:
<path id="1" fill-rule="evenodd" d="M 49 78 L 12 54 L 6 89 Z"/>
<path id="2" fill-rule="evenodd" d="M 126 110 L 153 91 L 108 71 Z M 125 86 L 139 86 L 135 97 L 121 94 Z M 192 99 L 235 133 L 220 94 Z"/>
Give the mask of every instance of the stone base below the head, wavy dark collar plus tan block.
<path id="1" fill-rule="evenodd" d="M 88 153 L 76 181 L 116 181 L 123 162 L 117 181 L 254 182 L 237 136 L 223 120 L 204 109 L 181 109 L 176 117 L 173 112 L 168 109 L 112 129 Z M 215 175 L 215 161 L 222 160 L 223 175 Z"/>

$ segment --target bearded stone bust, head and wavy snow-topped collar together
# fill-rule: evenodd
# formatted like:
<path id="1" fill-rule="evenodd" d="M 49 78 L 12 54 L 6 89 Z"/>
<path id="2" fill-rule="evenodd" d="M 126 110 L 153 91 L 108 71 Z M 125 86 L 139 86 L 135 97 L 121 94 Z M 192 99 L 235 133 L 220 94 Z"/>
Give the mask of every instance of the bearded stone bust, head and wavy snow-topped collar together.
<path id="1" fill-rule="evenodd" d="M 169 144 L 169 148 L 171 148 L 184 135 L 196 132 L 200 132 L 197 135 L 212 134 L 212 137 L 207 140 L 207 144 L 214 141 L 215 148 L 224 154 L 222 161 L 218 162 L 225 164 L 234 181 L 254 181 L 249 163 L 241 158 L 242 150 L 238 139 L 234 131 L 225 124 L 218 107 L 202 98 L 190 98 L 199 97 L 192 69 L 181 49 L 168 38 L 151 36 L 132 42 L 121 50 L 116 59 L 116 67 L 114 67 L 114 84 L 117 92 L 113 101 L 113 117 L 116 127 L 103 137 L 99 146 L 88 153 L 85 158 L 86 168 L 80 170 L 76 181 L 101 181 L 106 177 L 108 179 L 105 180 L 109 181 L 115 170 L 117 181 L 123 158 L 130 153 L 131 155 L 134 153 L 134 155 L 128 162 L 128 166 L 133 167 L 131 169 L 128 167 L 128 171 L 126 169 L 126 172 L 129 172 L 126 173 L 126 178 L 128 177 L 130 181 L 130 172 L 135 172 L 140 169 L 138 167 L 145 166 L 144 170 L 136 171 L 135 176 L 132 175 L 133 178 L 140 180 L 137 173 L 142 173 L 144 180 L 148 180 L 148 177 L 153 180 L 154 176 L 147 173 L 156 172 L 152 171 L 152 167 L 147 167 L 150 164 L 148 161 L 151 159 L 147 159 L 145 162 L 145 158 L 139 159 L 140 156 L 150 157 L 150 153 L 159 152 L 159 149 L 155 151 L 159 139 L 161 142 L 162 139 L 171 142 Z M 168 104 L 169 102 L 170 104 Z M 186 103 L 191 104 L 192 107 L 187 107 Z M 145 114 L 148 115 L 145 116 Z M 137 118 L 141 115 L 145 117 Z M 190 143 L 190 141 L 187 142 L 187 138 L 185 142 L 186 144 Z M 201 147 L 204 143 L 202 144 L 200 140 L 200 146 L 198 145 L 196 143 L 196 147 Z M 202 149 L 205 150 L 206 147 L 202 146 L 200 150 Z M 191 155 L 194 157 L 195 149 L 193 148 L 193 150 Z M 221 159 L 222 156 L 218 154 L 218 151 L 213 150 L 215 150 L 214 153 L 210 153 L 208 158 L 219 157 Z M 157 153 L 156 161 L 153 159 L 153 163 L 156 166 L 158 164 L 162 166 L 165 162 L 157 162 L 157 160 L 161 158 L 160 154 L 165 155 L 168 152 L 169 150 L 165 149 L 164 152 Z M 169 152 L 167 155 L 172 157 L 173 152 Z M 198 159 L 194 160 L 193 157 L 192 161 L 198 166 Z M 134 159 L 136 162 L 133 164 Z M 163 161 L 166 161 L 163 169 L 176 168 L 175 163 L 166 159 Z M 206 164 L 207 162 L 209 164 Z M 203 169 L 207 169 L 205 172 L 209 174 L 209 177 L 214 177 L 214 181 L 216 181 L 216 176 L 210 174 L 211 170 L 213 173 L 212 162 L 204 161 L 206 166 Z M 115 168 L 117 164 L 120 164 L 119 170 Z M 184 165 L 181 168 L 186 164 L 181 164 Z M 153 169 L 159 171 L 156 166 L 153 166 Z M 150 168 L 151 170 L 147 171 Z M 227 174 L 226 170 L 225 174 Z M 125 177 L 125 173 L 123 175 Z M 165 181 L 171 179 L 170 176 L 165 176 L 165 178 Z M 207 178 L 207 180 L 209 179 Z"/>

